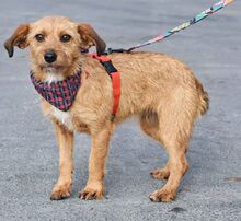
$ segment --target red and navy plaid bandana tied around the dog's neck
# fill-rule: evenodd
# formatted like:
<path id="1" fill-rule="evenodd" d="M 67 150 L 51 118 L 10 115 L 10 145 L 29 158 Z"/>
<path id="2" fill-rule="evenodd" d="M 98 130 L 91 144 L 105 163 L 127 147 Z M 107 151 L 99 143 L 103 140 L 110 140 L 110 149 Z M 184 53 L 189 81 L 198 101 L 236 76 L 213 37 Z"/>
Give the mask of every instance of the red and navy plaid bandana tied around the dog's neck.
<path id="1" fill-rule="evenodd" d="M 81 72 L 66 78 L 64 81 L 58 82 L 42 82 L 34 77 L 31 71 L 31 80 L 36 91 L 53 106 L 67 112 L 74 102 L 77 92 L 81 84 Z"/>

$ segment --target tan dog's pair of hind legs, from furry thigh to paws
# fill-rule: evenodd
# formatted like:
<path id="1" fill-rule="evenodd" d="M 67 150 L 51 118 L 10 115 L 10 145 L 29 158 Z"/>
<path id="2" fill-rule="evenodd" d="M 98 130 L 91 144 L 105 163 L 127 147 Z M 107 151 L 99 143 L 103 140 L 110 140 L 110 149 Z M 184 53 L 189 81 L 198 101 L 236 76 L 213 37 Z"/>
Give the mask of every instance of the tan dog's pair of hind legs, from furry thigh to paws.
<path id="1" fill-rule="evenodd" d="M 185 153 L 196 118 L 198 102 L 195 92 L 191 93 L 182 88 L 174 89 L 159 103 L 158 108 L 153 108 L 159 124 L 149 124 L 149 129 L 142 126 L 146 132 L 162 143 L 169 155 L 167 165 L 162 170 L 153 171 L 153 176 L 168 178 L 168 181 L 161 189 L 150 195 L 152 201 L 173 200 L 181 179 L 188 170 Z"/>

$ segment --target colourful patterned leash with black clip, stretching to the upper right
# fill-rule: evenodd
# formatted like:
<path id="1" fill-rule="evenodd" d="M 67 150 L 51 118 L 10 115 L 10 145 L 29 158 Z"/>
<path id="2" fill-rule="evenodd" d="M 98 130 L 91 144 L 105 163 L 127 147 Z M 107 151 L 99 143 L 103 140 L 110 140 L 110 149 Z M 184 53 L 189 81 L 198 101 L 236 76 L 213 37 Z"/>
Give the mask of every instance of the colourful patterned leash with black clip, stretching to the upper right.
<path id="1" fill-rule="evenodd" d="M 197 22 L 206 19 L 207 16 L 214 14 L 215 12 L 219 11 L 220 9 L 225 8 L 226 5 L 230 4 L 233 0 L 221 0 L 219 2 L 217 2 L 216 4 L 214 4 L 213 7 L 210 7 L 209 9 L 200 12 L 199 14 L 197 14 L 195 18 L 193 18 L 192 20 L 187 21 L 187 22 L 184 22 L 183 24 L 174 27 L 173 30 L 170 30 L 168 32 L 165 32 L 164 34 L 161 34 L 161 35 L 158 35 L 157 37 L 148 40 L 148 42 L 145 42 L 142 44 L 138 44 L 134 47 L 130 47 L 128 49 L 112 49 L 112 48 L 108 48 L 105 54 L 106 55 L 110 55 L 112 53 L 130 53 L 131 50 L 134 49 L 137 49 L 137 48 L 140 48 L 140 47 L 144 47 L 144 46 L 147 46 L 147 45 L 151 45 L 153 43 L 157 43 L 159 40 L 162 40 L 167 37 L 170 37 L 171 35 L 182 31 L 182 30 L 185 30 L 187 27 L 190 27 L 191 25 L 193 24 L 196 24 Z"/>

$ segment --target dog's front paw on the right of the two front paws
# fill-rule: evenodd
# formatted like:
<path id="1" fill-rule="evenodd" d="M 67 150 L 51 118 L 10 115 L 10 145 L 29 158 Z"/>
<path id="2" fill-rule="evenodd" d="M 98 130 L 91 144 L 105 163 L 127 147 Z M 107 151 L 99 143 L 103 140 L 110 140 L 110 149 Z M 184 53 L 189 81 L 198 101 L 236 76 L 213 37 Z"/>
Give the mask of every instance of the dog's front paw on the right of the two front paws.
<path id="1" fill-rule="evenodd" d="M 88 185 L 80 194 L 80 199 L 92 200 L 102 199 L 104 196 L 104 187 L 102 184 Z"/>

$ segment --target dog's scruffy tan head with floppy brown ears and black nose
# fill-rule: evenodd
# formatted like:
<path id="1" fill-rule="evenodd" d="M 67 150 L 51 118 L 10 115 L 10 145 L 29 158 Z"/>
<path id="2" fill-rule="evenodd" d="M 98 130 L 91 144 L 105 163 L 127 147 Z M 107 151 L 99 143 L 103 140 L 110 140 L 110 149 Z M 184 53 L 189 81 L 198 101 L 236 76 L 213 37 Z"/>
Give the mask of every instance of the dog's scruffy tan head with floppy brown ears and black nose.
<path id="1" fill-rule="evenodd" d="M 99 55 L 105 50 L 105 43 L 89 24 L 62 16 L 20 25 L 4 43 L 9 57 L 13 56 L 14 46 L 30 47 L 32 63 L 46 73 L 66 72 L 78 66 L 81 49 L 95 46 Z"/>

